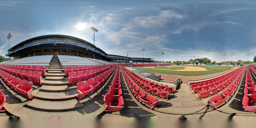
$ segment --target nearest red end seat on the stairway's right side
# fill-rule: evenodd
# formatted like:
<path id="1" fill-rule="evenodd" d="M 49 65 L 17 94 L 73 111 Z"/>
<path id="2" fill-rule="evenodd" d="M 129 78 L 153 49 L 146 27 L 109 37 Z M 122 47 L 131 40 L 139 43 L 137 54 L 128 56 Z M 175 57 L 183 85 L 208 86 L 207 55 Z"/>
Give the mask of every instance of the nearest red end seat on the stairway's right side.
<path id="1" fill-rule="evenodd" d="M 84 81 L 80 81 L 76 83 L 77 86 L 77 98 L 81 99 L 82 97 L 84 97 L 87 94 L 90 94 L 93 92 L 94 87 L 88 84 L 87 80 Z"/>

